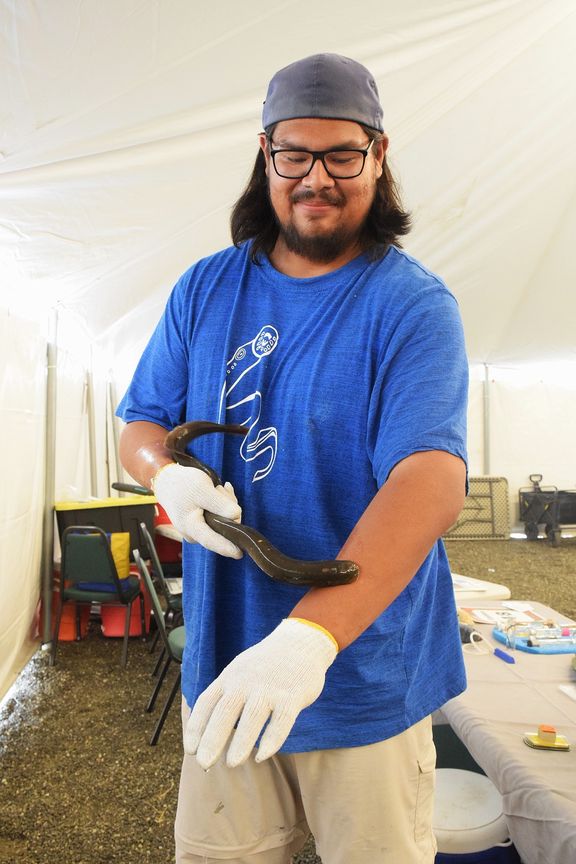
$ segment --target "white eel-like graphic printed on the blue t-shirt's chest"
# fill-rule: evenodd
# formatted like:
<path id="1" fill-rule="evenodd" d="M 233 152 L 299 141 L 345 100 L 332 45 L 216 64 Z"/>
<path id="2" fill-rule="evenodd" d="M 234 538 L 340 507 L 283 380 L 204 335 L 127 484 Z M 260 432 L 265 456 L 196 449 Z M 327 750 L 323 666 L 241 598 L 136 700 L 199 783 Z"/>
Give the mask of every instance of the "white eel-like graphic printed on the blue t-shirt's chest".
<path id="1" fill-rule="evenodd" d="M 252 483 L 263 480 L 272 470 L 278 448 L 278 431 L 275 426 L 258 429 L 262 393 L 256 390 L 254 385 L 256 373 L 250 374 L 250 372 L 256 368 L 263 357 L 267 357 L 274 351 L 278 339 L 278 331 L 275 327 L 267 325 L 262 327 L 253 340 L 239 346 L 226 364 L 226 379 L 220 393 L 218 422 L 239 423 L 250 429 L 240 446 L 240 455 L 244 461 L 251 462 L 267 454 L 268 464 L 266 467 L 258 468 Z M 240 382 L 242 385 L 238 387 Z M 230 394 L 232 395 L 229 404 Z"/>

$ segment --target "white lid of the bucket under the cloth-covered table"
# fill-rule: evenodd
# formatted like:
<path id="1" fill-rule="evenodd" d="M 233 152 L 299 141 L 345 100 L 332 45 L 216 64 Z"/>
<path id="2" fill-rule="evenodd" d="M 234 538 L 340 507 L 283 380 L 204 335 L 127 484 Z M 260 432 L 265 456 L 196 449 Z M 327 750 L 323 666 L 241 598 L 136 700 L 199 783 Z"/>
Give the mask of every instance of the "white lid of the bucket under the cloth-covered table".
<path id="1" fill-rule="evenodd" d="M 509 837 L 496 786 L 459 768 L 436 770 L 433 827 L 438 851 L 446 854 L 483 852 Z"/>

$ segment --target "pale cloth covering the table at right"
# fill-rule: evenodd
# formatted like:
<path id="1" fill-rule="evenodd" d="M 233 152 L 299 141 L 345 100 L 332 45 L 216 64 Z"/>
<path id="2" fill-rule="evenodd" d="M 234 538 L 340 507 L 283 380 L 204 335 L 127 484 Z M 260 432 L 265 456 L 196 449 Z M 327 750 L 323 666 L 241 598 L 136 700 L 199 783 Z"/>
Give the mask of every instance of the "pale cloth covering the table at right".
<path id="1" fill-rule="evenodd" d="M 469 604 L 468 604 L 469 605 Z M 488 601 L 485 607 L 501 607 Z M 535 611 L 564 624 L 574 622 L 533 602 Z M 477 625 L 493 647 L 492 628 Z M 576 862 L 576 700 L 559 685 L 576 685 L 573 654 L 535 655 L 505 649 L 515 664 L 494 654 L 466 653 L 468 688 L 446 702 L 434 722 L 446 720 L 503 796 L 510 837 L 524 864 Z M 534 750 L 525 732 L 540 723 L 571 742 L 568 753 Z"/>

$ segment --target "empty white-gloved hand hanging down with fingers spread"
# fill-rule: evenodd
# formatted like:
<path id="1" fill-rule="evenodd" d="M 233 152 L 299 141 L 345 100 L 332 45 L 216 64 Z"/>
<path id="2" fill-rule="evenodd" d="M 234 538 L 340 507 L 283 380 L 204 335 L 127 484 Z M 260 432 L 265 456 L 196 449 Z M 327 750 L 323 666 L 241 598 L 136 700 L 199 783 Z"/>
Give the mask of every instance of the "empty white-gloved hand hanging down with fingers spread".
<path id="1" fill-rule="evenodd" d="M 338 653 L 323 628 L 287 618 L 262 642 L 238 654 L 201 693 L 187 722 L 184 750 L 196 753 L 207 770 L 218 761 L 238 717 L 226 755 L 230 768 L 242 765 L 270 712 L 256 762 L 280 749 L 302 708 L 320 696 L 326 669 Z"/>

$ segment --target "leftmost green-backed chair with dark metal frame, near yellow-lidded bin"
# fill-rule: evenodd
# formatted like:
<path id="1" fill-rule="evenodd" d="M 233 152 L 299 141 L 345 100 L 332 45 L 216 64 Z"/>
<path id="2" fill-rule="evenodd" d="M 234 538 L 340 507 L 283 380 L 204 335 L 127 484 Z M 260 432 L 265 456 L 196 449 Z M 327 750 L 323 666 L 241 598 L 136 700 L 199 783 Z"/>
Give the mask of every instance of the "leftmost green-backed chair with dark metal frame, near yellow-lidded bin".
<path id="1" fill-rule="evenodd" d="M 142 619 L 142 638 L 146 638 L 144 622 L 144 597 L 140 590 L 140 580 L 136 576 L 120 579 L 112 557 L 110 543 L 104 531 L 94 525 L 71 525 L 62 531 L 60 537 L 62 560 L 60 562 L 60 603 L 56 615 L 56 626 L 50 652 L 50 665 L 54 666 L 60 617 L 65 603 L 76 604 L 77 620 L 79 606 L 92 603 L 106 603 L 111 606 L 126 607 L 126 625 L 122 651 L 122 668 L 128 659 L 128 636 L 130 632 L 130 613 L 136 597 L 140 599 Z M 72 584 L 69 584 L 72 583 Z"/>

